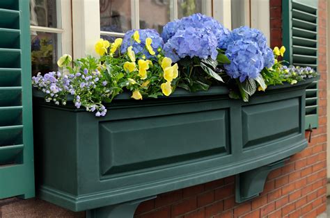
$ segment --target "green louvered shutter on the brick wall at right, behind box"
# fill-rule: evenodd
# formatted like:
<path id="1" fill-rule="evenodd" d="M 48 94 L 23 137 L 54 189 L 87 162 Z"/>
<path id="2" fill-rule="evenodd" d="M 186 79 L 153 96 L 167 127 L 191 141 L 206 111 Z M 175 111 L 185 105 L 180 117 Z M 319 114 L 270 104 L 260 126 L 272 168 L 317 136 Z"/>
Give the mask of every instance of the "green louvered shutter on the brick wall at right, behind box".
<path id="1" fill-rule="evenodd" d="M 317 0 L 283 0 L 284 59 L 291 65 L 317 70 Z M 305 128 L 318 126 L 317 82 L 306 89 Z"/>

